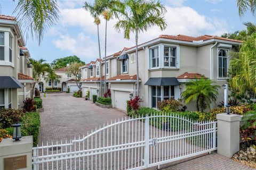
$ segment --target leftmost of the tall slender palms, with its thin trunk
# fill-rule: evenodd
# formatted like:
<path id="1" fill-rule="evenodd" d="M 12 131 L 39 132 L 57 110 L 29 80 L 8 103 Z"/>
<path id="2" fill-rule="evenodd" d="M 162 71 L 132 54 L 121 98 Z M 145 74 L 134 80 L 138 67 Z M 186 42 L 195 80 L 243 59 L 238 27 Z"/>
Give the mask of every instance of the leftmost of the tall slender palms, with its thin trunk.
<path id="1" fill-rule="evenodd" d="M 99 76 L 100 76 L 100 91 L 99 95 L 101 96 L 101 91 L 102 91 L 102 75 L 101 75 L 101 53 L 100 53 L 100 35 L 99 35 L 99 24 L 100 24 L 100 14 L 102 13 L 102 7 L 97 5 L 96 2 L 94 4 L 90 4 L 88 2 L 84 3 L 83 8 L 86 11 L 89 11 L 92 17 L 94 18 L 94 23 L 97 25 L 97 33 L 98 33 L 98 47 L 99 47 L 99 58 L 100 58 L 100 67 L 99 67 Z M 106 61 L 106 56 L 105 56 L 105 61 Z M 106 63 L 105 63 L 106 64 Z M 106 71 L 106 70 L 105 70 Z M 106 75 L 105 75 L 106 77 Z"/>

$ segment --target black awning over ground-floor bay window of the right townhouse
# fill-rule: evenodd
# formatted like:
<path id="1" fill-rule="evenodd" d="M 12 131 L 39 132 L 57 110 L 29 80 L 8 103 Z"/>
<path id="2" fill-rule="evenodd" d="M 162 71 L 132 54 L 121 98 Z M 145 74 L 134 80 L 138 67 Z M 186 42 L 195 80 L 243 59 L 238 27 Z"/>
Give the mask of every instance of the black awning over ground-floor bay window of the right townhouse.
<path id="1" fill-rule="evenodd" d="M 149 86 L 177 86 L 180 85 L 176 78 L 149 78 L 144 85 Z"/>

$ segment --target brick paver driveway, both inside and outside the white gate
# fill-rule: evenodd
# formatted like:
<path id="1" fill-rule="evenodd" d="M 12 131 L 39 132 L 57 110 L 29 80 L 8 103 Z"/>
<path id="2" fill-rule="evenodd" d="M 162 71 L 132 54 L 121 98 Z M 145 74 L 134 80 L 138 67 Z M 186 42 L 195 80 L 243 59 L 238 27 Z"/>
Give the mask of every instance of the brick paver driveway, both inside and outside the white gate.
<path id="1" fill-rule="evenodd" d="M 39 134 L 40 143 L 49 141 L 65 141 L 74 139 L 74 136 L 87 134 L 87 131 L 95 130 L 99 126 L 111 120 L 125 116 L 125 113 L 114 108 L 100 108 L 92 101 L 83 98 L 75 98 L 71 94 L 47 94 L 43 98 L 45 111 L 41 114 L 41 129 Z M 154 168 L 148 168 L 153 170 Z M 213 153 L 202 157 L 188 160 L 187 162 L 173 162 L 164 164 L 161 169 L 166 170 L 204 170 L 204 169 L 253 169 L 249 166 L 234 162 L 233 160 Z"/>

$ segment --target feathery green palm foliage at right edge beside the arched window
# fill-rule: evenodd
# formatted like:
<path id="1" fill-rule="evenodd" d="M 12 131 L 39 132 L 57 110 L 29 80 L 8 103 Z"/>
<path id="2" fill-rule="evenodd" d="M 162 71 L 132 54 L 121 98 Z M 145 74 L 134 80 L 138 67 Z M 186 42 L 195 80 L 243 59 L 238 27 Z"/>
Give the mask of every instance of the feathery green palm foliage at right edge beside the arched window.
<path id="1" fill-rule="evenodd" d="M 234 91 L 256 94 L 256 33 L 247 37 L 239 53 L 233 54 L 230 61 L 229 86 Z"/>

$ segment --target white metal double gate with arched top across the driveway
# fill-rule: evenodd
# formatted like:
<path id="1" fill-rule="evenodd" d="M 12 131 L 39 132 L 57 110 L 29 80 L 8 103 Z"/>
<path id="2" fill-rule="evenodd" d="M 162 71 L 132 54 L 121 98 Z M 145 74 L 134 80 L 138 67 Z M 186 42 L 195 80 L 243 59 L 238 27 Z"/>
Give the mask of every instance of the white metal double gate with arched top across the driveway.
<path id="1" fill-rule="evenodd" d="M 33 148 L 34 169 L 144 169 L 216 150 L 217 122 L 177 114 L 122 118 Z"/>

